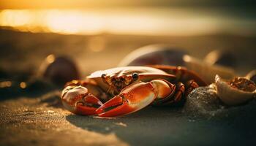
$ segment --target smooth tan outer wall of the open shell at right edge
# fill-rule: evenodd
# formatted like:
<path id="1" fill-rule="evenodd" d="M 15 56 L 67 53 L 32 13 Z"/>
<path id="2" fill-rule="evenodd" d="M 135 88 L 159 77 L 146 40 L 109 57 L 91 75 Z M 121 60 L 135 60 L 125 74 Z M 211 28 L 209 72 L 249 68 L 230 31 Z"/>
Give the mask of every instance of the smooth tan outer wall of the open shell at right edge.
<path id="1" fill-rule="evenodd" d="M 227 105 L 243 104 L 246 101 L 256 97 L 256 90 L 248 92 L 233 88 L 228 82 L 222 80 L 219 75 L 216 75 L 215 77 L 215 84 L 219 99 L 221 99 Z"/>

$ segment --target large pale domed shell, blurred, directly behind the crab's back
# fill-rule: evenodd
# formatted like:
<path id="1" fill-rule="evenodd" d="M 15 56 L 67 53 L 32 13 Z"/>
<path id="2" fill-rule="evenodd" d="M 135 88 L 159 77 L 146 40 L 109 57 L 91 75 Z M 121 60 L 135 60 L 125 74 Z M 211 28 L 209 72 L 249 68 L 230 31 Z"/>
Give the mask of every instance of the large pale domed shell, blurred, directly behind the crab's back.
<path id="1" fill-rule="evenodd" d="M 170 45 L 147 45 L 129 53 L 118 66 L 172 65 L 184 66 L 187 52 Z"/>

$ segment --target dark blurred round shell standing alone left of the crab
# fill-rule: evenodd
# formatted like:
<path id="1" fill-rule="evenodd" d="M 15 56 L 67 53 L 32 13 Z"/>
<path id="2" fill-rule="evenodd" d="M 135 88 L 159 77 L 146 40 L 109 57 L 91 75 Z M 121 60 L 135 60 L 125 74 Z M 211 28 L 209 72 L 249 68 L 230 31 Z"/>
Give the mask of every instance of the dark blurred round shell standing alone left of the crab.
<path id="1" fill-rule="evenodd" d="M 67 57 L 48 55 L 39 67 L 37 76 L 42 77 L 56 85 L 64 85 L 71 80 L 78 80 L 80 74 L 75 63 Z"/>

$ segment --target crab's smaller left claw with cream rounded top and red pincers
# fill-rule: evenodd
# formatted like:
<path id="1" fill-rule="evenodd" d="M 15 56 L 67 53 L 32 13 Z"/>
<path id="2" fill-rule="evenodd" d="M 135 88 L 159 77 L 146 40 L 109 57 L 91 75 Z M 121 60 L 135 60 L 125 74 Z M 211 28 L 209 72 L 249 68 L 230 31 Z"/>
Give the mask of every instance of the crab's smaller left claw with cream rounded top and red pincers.
<path id="1" fill-rule="evenodd" d="M 67 110 L 79 115 L 95 115 L 97 108 L 102 105 L 97 97 L 81 85 L 64 88 L 61 101 Z"/>

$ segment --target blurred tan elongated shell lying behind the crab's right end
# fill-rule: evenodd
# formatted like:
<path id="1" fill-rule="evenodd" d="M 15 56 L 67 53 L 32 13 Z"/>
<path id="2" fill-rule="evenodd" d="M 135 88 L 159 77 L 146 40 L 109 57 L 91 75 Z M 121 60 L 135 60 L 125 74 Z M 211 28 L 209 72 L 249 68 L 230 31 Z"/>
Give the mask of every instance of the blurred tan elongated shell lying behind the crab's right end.
<path id="1" fill-rule="evenodd" d="M 233 79 L 233 77 L 236 77 L 235 71 L 229 67 L 208 64 L 207 62 L 194 58 L 190 55 L 184 55 L 184 62 L 187 69 L 199 74 L 200 77 L 208 84 L 214 82 L 216 74 L 230 80 Z"/>

